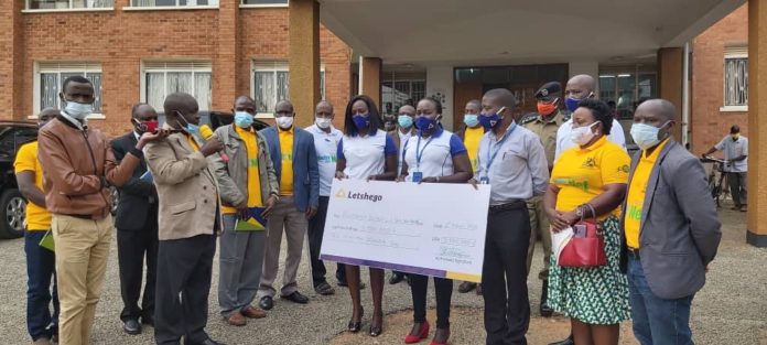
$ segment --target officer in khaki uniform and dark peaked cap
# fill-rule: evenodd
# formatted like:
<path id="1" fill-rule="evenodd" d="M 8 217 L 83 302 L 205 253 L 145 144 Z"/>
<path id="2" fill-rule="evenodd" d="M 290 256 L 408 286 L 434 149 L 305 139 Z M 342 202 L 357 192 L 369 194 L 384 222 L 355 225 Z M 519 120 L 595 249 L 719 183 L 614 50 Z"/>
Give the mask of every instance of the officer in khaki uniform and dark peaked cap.
<path id="1" fill-rule="evenodd" d="M 557 150 L 557 131 L 565 122 L 564 116 L 559 109 L 562 96 L 562 85 L 558 82 L 543 84 L 536 91 L 538 99 L 538 111 L 526 116 L 520 123 L 540 138 L 545 152 L 545 160 L 549 164 L 549 173 L 554 166 L 554 151 Z M 543 269 L 538 273 L 538 278 L 543 281 L 541 288 L 541 304 L 539 311 L 542 316 L 549 317 L 553 310 L 547 303 L 549 288 L 549 258 L 551 257 L 551 231 L 549 230 L 549 218 L 543 211 L 543 196 L 537 195 L 527 201 L 528 213 L 530 215 L 530 246 L 528 247 L 527 272 L 530 274 L 530 263 L 532 254 L 536 250 L 536 238 L 540 238 L 543 246 Z"/>

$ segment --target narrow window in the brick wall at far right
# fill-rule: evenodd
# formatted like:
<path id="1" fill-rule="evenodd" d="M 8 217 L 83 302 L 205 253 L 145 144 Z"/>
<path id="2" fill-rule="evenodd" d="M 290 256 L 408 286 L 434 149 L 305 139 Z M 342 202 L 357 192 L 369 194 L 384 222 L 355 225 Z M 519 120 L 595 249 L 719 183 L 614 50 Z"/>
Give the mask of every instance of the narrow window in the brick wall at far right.
<path id="1" fill-rule="evenodd" d="M 727 47 L 724 53 L 724 109 L 747 110 L 748 48 Z"/>

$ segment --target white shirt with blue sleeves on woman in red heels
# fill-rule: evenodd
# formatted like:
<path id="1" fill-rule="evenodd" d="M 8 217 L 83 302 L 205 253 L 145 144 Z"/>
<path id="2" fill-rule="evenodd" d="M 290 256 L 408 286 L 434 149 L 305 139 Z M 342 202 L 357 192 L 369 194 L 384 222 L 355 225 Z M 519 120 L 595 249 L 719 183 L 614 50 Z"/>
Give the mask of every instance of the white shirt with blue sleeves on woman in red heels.
<path id="1" fill-rule="evenodd" d="M 408 176 L 404 181 L 412 182 L 413 174 L 421 177 L 450 176 L 453 172 L 453 157 L 466 153 L 466 147 L 457 136 L 439 129 L 429 138 L 412 136 L 403 147 L 404 162 L 408 164 Z M 418 158 L 421 158 L 420 161 Z"/>

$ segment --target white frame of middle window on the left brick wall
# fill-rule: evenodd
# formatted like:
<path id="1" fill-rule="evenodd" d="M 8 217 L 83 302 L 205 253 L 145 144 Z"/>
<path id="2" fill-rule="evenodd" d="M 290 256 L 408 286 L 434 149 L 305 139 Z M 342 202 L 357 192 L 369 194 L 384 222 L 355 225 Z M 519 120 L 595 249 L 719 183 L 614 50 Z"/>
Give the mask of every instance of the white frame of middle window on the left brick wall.
<path id="1" fill-rule="evenodd" d="M 162 66 L 161 66 L 162 65 Z M 194 80 L 195 73 L 209 73 L 210 74 L 210 91 L 209 91 L 209 105 L 208 109 L 202 109 L 199 111 L 213 111 L 213 62 L 209 60 L 170 60 L 170 61 L 141 61 L 140 71 L 140 101 L 147 101 L 147 74 L 148 73 L 163 73 L 163 91 L 164 97 L 168 97 L 168 73 L 192 73 L 192 80 Z M 194 96 L 194 83 L 192 96 Z M 196 99 L 196 98 L 195 98 Z M 199 103 L 199 100 L 197 100 Z M 163 109 L 155 109 L 158 112 L 163 112 Z"/>

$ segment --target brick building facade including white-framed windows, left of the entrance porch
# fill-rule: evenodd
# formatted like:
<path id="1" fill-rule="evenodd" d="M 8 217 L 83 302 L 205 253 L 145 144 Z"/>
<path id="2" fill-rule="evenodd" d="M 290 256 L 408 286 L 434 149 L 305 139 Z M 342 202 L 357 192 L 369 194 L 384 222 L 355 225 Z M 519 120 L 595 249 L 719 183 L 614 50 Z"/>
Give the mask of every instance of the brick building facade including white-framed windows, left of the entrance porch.
<path id="1" fill-rule="evenodd" d="M 43 104 L 55 101 L 51 100 L 51 80 L 63 80 L 73 68 L 85 68 L 84 73 L 93 72 L 99 79 L 102 117 L 91 123 L 111 136 L 130 129 L 132 105 L 152 97 L 156 104 L 162 98 L 158 97 L 162 91 L 152 97 L 148 93 L 154 80 L 148 75 L 154 71 L 150 68 L 160 66 L 153 76 L 169 85 L 169 74 L 196 71 L 202 78 L 190 79 L 196 83 L 195 95 L 209 99 L 209 110 L 226 111 L 237 95 L 255 96 L 256 66 L 284 69 L 267 75 L 270 84 L 287 72 L 285 6 L 249 7 L 238 0 L 170 9 L 134 8 L 131 0 L 115 0 L 114 8 L 79 11 L 29 11 L 25 6 L 14 0 L 0 10 L 0 119 L 23 120 L 36 115 Z M 325 98 L 343 112 L 350 94 L 352 52 L 324 28 L 321 45 Z M 278 97 L 280 86 L 273 83 L 264 93 Z M 209 90 L 199 90 L 208 84 Z M 205 100 L 199 101 L 204 109 Z M 336 120 L 341 123 L 341 116 Z"/>

